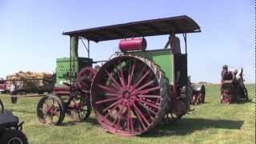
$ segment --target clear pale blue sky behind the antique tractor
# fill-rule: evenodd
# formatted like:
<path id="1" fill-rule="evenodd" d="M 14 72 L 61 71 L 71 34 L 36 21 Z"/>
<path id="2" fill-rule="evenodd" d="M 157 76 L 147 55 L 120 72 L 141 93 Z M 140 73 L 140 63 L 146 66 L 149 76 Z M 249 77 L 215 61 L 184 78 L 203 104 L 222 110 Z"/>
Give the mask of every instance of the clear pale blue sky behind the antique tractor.
<path id="1" fill-rule="evenodd" d="M 192 81 L 220 82 L 221 67 L 227 64 L 243 66 L 246 82 L 254 82 L 253 0 L 0 0 L 0 78 L 18 70 L 54 71 L 55 58 L 69 55 L 63 31 L 183 14 L 202 29 L 188 35 Z M 148 48 L 162 48 L 166 40 L 147 38 Z M 118 41 L 93 43 L 91 56 L 109 58 L 117 46 Z"/>

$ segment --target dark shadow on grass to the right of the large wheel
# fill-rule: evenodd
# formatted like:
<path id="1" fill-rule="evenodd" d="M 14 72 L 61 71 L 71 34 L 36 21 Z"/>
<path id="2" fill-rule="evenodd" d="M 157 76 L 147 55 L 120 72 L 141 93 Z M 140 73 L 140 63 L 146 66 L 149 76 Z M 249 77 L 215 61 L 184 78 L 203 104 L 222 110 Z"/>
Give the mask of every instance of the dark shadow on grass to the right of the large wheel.
<path id="1" fill-rule="evenodd" d="M 180 121 L 166 125 L 160 125 L 153 130 L 150 130 L 142 137 L 162 137 L 169 135 L 186 135 L 193 133 L 196 130 L 205 130 L 208 128 L 215 129 L 241 129 L 243 121 L 231 120 L 211 120 L 204 118 L 182 118 Z"/>

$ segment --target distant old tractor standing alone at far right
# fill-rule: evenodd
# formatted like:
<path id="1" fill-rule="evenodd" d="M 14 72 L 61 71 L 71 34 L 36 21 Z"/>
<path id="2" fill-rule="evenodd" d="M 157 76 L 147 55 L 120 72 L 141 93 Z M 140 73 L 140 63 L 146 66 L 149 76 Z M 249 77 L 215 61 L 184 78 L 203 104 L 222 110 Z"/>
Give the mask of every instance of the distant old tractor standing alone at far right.
<path id="1" fill-rule="evenodd" d="M 239 70 L 230 71 L 228 66 L 222 66 L 222 81 L 221 81 L 221 102 L 241 102 L 248 100 L 248 93 L 244 85 L 242 77 L 242 68 Z"/>

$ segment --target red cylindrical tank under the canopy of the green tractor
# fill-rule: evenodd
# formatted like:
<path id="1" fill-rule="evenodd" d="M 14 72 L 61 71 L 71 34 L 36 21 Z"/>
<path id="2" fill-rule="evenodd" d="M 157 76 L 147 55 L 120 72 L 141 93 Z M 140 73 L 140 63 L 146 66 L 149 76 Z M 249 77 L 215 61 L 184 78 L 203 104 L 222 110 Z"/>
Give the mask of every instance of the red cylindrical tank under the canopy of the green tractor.
<path id="1" fill-rule="evenodd" d="M 145 38 L 127 38 L 122 39 L 119 42 L 119 49 L 122 52 L 133 51 L 133 50 L 146 50 L 146 39 Z"/>

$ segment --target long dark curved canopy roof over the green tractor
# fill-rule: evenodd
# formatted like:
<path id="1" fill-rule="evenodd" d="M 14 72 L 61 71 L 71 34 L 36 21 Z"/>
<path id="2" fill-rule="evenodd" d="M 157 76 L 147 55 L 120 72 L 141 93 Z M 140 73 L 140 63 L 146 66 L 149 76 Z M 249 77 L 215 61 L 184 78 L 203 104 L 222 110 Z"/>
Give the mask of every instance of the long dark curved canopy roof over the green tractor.
<path id="1" fill-rule="evenodd" d="M 64 35 L 78 36 L 100 42 L 121 38 L 136 38 L 164 34 L 185 34 L 201 32 L 194 20 L 186 15 L 158 18 L 139 22 L 128 22 L 112 26 L 64 32 Z"/>

